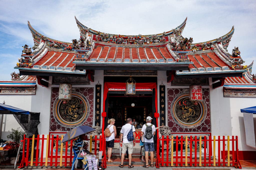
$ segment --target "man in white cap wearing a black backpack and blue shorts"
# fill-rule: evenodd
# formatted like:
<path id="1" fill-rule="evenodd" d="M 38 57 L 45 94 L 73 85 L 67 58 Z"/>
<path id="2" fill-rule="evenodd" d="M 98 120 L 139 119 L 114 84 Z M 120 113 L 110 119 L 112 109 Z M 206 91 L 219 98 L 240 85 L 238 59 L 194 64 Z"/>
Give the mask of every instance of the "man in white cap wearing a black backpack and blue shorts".
<path id="1" fill-rule="evenodd" d="M 146 123 L 142 126 L 141 129 L 141 140 L 144 141 L 144 149 L 145 149 L 145 161 L 146 165 L 143 167 L 148 168 L 148 151 L 150 151 L 150 158 L 151 158 L 151 167 L 154 167 L 153 160 L 154 160 L 154 135 L 156 134 L 156 128 L 155 125 L 151 124 L 152 117 L 147 116 Z M 150 136 L 147 134 L 146 129 L 147 127 L 152 128 L 152 138 L 147 139 L 146 136 Z"/>

